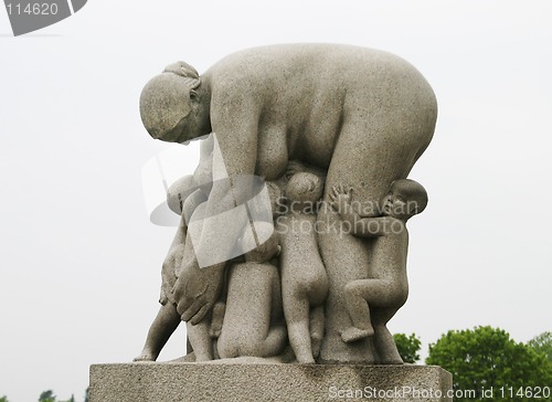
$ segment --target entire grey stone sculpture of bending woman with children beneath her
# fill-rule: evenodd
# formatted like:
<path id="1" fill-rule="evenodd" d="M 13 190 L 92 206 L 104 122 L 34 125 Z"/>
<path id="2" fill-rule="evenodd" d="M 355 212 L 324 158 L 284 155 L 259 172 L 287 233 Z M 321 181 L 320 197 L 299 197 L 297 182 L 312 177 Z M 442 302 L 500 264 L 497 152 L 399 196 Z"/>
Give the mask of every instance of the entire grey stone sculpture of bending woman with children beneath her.
<path id="1" fill-rule="evenodd" d="M 309 222 L 314 231 L 280 236 L 280 274 L 277 262 L 269 262 L 276 253 L 272 236 L 262 246 L 264 242 L 254 234 L 261 248 L 244 250 L 245 260 L 203 264 L 201 256 L 221 248 L 220 230 L 213 220 L 201 220 L 195 237 L 199 241 L 192 246 L 187 239 L 187 224 L 182 224 L 163 265 L 163 272 L 166 266 L 171 272 L 170 284 L 173 284 L 170 292 L 164 287 L 171 308 L 170 324 L 159 330 L 159 341 L 156 348 L 150 348 L 155 350 L 142 353 L 142 360 L 157 358 L 159 346 L 178 325 L 176 317 L 188 321 L 194 352 L 198 348 L 203 350 L 201 356 L 195 353 L 198 360 L 216 357 L 216 351 L 221 357 L 267 357 L 282 352 L 286 331 L 279 320 L 279 295 L 275 297 L 282 276 L 287 332 L 298 361 L 314 362 L 316 358 L 318 362 L 401 362 L 385 324 L 406 297 L 407 232 L 375 234 L 370 228 L 374 220 L 404 223 L 425 207 L 420 188 L 411 192 L 403 184 L 411 183 L 404 179 L 433 137 L 437 106 L 432 88 L 411 64 L 385 52 L 332 44 L 246 50 L 223 59 L 201 76 L 190 65 L 179 62 L 145 86 L 140 114 L 155 139 L 185 145 L 215 133 L 212 137 L 220 158 L 215 155 L 211 161 L 212 186 L 203 192 L 202 203 L 192 208 L 192 220 L 194 214 L 200 216 L 198 210 L 201 216 L 210 218 L 243 203 L 242 195 L 251 193 L 247 180 L 241 179 L 247 174 L 274 181 L 268 186 L 273 207 L 280 205 L 274 199 L 278 187 L 284 193 L 287 187 L 288 202 L 299 201 L 302 205 L 320 198 L 317 208 L 308 213 L 301 211 L 290 216 L 289 211 L 284 215 L 273 211 L 270 214 L 276 220 L 283 218 L 283 222 L 293 219 Z M 289 174 L 297 163 L 308 167 L 310 173 Z M 221 166 L 227 180 L 219 180 Z M 322 178 L 316 171 L 321 171 Z M 305 183 L 295 183 L 296 180 L 311 181 L 306 192 Z M 392 183 L 395 183 L 392 195 L 406 192 L 420 203 L 417 211 L 394 215 L 388 204 L 380 211 L 380 200 Z M 343 231 L 346 223 L 354 228 L 352 233 Z M 255 222 L 248 224 L 255 226 Z M 244 237 L 243 230 L 243 225 L 231 225 L 225 232 L 237 240 Z M 299 243 L 294 243 L 294 236 Z M 302 247 L 305 251 L 299 255 Z M 250 251 L 254 256 L 245 253 Z M 372 256 L 376 253 L 389 255 L 396 264 L 374 263 Z M 245 303 L 253 292 L 248 286 L 253 285 L 242 283 L 251 277 L 247 273 L 253 266 L 258 275 L 252 279 L 257 284 L 255 292 L 265 298 L 255 308 Z M 294 273 L 312 276 L 300 278 Z M 379 298 L 374 299 L 369 289 L 381 275 L 388 274 L 392 278 L 389 292 L 396 295 L 380 288 L 384 295 L 380 307 Z M 305 281 L 301 295 L 293 289 L 296 281 Z M 212 321 L 217 319 L 213 311 L 220 310 L 213 306 L 221 297 L 226 297 L 226 311 L 217 350 L 212 351 L 212 337 L 217 336 L 213 335 L 216 325 Z M 367 300 L 369 307 L 355 313 L 355 306 Z M 242 306 L 244 314 L 251 315 L 257 307 L 270 308 L 269 313 L 247 321 L 253 316 L 236 320 L 238 308 L 232 306 Z M 250 330 L 233 328 L 237 322 L 251 326 Z M 192 341 L 194 335 L 199 335 L 199 340 Z"/>

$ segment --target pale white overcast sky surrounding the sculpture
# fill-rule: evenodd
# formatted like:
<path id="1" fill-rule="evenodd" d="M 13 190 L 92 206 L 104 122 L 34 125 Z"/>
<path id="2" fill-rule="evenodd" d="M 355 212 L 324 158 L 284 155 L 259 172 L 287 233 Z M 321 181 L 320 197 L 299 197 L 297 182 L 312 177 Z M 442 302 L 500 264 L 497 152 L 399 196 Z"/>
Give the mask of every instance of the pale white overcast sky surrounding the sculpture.
<path id="1" fill-rule="evenodd" d="M 0 396 L 82 400 L 91 363 L 139 353 L 173 234 L 146 213 L 141 168 L 170 145 L 142 128 L 140 91 L 177 60 L 201 73 L 270 43 L 386 50 L 437 95 L 391 330 L 424 349 L 477 325 L 551 330 L 551 18 L 545 0 L 91 0 L 12 38 L 0 8 Z M 180 329 L 161 360 L 183 352 Z"/>

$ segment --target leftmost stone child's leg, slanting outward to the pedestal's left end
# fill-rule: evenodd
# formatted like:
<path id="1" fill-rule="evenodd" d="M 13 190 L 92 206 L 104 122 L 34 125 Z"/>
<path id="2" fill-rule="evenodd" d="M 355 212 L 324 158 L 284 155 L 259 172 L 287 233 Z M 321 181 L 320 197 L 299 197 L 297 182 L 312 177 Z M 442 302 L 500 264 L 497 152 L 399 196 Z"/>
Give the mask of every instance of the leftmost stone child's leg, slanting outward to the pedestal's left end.
<path id="1" fill-rule="evenodd" d="M 180 315 L 177 311 L 177 307 L 170 303 L 161 306 L 156 319 L 149 328 L 144 350 L 134 361 L 156 361 L 161 349 L 179 324 Z"/>

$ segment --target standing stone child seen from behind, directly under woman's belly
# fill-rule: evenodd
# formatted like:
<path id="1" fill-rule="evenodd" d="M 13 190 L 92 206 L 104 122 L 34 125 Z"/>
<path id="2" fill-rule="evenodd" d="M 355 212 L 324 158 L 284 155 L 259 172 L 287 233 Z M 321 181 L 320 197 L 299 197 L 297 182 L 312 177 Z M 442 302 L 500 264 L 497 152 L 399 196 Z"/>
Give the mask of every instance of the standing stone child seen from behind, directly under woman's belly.
<path id="1" fill-rule="evenodd" d="M 288 211 L 277 219 L 284 315 L 289 343 L 300 363 L 315 362 L 323 337 L 328 277 L 315 230 L 322 188 L 322 180 L 314 173 L 293 174 L 285 191 Z"/>

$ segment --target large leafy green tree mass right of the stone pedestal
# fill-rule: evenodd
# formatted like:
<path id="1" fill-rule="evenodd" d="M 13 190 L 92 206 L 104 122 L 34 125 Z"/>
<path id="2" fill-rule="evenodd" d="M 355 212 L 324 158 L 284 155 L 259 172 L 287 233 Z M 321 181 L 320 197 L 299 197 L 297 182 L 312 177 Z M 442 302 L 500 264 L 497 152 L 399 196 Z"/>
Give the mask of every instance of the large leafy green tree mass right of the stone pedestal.
<path id="1" fill-rule="evenodd" d="M 477 327 L 473 330 L 450 330 L 435 343 L 429 345 L 427 364 L 437 364 L 453 373 L 453 388 L 473 390 L 476 399 L 455 398 L 455 401 L 484 401 L 481 390 L 491 387 L 497 398 L 500 388 L 506 388 L 500 401 L 533 401 L 528 394 L 516 394 L 529 388 L 552 384 L 552 364 L 544 355 L 518 343 L 502 329 Z M 509 388 L 514 391 L 509 395 Z M 489 400 L 486 398 L 485 400 Z M 540 399 L 540 401 L 551 401 Z"/>

